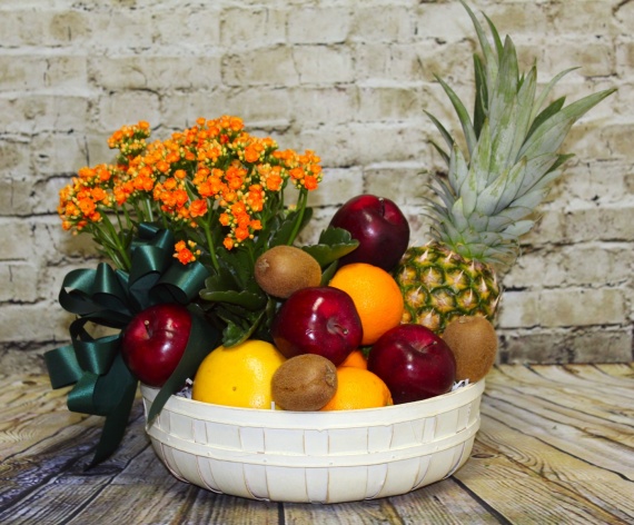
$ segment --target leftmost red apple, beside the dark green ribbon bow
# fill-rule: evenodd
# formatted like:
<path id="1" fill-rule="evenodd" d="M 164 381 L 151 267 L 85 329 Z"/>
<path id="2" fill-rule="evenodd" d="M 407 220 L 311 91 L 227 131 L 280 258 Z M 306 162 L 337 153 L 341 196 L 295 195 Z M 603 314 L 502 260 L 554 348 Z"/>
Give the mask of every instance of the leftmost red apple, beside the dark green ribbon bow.
<path id="1" fill-rule="evenodd" d="M 150 306 L 126 327 L 121 357 L 141 383 L 160 387 L 178 366 L 190 330 L 191 314 L 185 306 Z"/>

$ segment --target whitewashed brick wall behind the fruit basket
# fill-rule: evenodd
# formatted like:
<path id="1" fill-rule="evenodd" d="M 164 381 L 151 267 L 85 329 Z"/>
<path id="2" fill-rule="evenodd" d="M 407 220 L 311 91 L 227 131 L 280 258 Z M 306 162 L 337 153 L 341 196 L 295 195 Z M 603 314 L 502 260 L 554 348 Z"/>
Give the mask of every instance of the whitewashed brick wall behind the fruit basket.
<path id="1" fill-rule="evenodd" d="M 574 8 L 573 4 L 574 3 Z M 504 277 L 504 363 L 628 361 L 634 320 L 634 2 L 473 0 L 557 95 L 618 92 L 578 122 L 576 153 Z M 457 1 L 4 0 L 0 4 L 0 364 L 41 367 L 66 344 L 63 276 L 95 246 L 61 230 L 57 192 L 106 138 L 238 115 L 284 147 L 313 148 L 315 238 L 347 198 L 399 202 L 424 242 L 428 176 L 443 169 L 429 110 L 457 128 L 434 73 L 470 106 L 474 32 Z"/>

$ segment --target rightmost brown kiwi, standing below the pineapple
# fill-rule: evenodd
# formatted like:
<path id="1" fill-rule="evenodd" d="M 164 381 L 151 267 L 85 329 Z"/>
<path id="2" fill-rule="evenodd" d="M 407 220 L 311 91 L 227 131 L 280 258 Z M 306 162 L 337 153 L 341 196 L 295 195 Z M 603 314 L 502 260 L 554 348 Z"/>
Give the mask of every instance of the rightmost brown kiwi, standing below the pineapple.
<path id="1" fill-rule="evenodd" d="M 497 336 L 493 325 L 479 316 L 463 316 L 452 320 L 443 339 L 456 358 L 456 380 L 481 380 L 495 361 Z"/>

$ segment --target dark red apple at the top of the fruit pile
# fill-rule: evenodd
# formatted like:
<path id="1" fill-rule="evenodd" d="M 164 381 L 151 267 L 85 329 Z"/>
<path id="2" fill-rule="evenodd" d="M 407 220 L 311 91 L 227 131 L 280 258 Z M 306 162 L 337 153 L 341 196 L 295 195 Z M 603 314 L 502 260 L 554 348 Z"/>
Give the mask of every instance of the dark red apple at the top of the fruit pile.
<path id="1" fill-rule="evenodd" d="M 339 259 L 339 264 L 368 262 L 392 270 L 409 244 L 409 224 L 392 200 L 359 195 L 344 204 L 330 219 L 330 226 L 348 230 L 359 246 Z"/>

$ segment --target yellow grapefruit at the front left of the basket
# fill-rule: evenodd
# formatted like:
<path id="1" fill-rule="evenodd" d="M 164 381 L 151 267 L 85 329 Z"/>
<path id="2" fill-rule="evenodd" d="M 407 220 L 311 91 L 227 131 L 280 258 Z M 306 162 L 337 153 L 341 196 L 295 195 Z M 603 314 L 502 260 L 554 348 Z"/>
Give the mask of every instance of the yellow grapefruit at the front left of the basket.
<path id="1" fill-rule="evenodd" d="M 271 378 L 286 358 L 270 343 L 219 346 L 198 367 L 191 398 L 216 405 L 270 408 Z"/>

